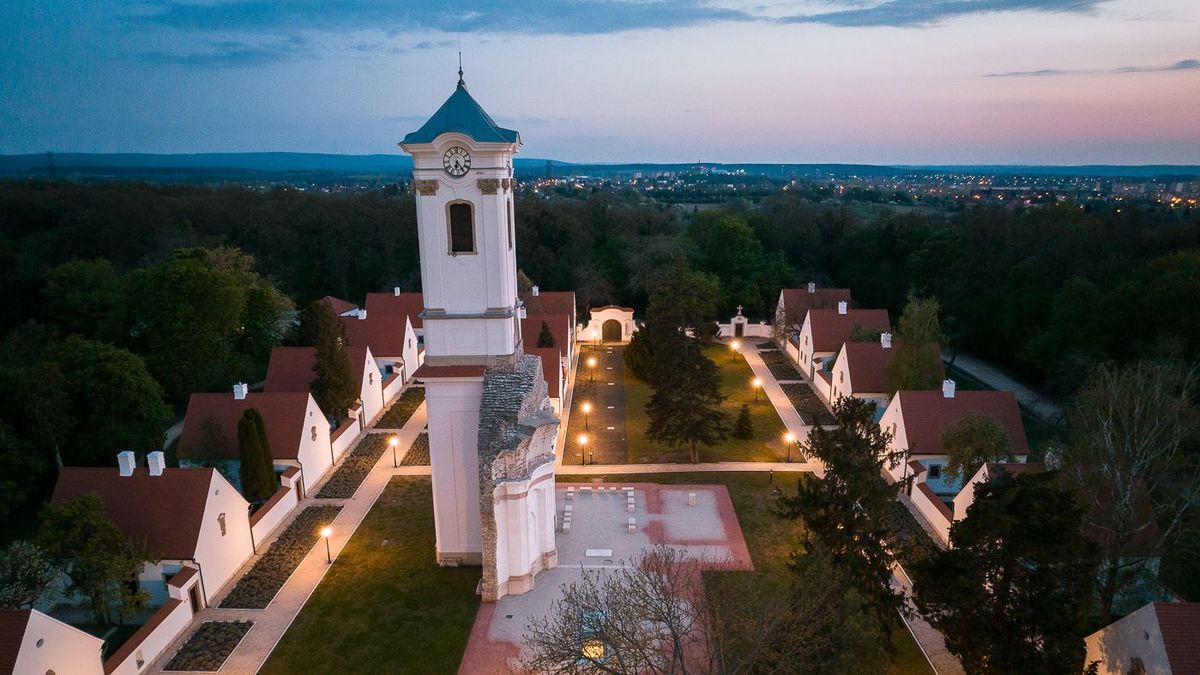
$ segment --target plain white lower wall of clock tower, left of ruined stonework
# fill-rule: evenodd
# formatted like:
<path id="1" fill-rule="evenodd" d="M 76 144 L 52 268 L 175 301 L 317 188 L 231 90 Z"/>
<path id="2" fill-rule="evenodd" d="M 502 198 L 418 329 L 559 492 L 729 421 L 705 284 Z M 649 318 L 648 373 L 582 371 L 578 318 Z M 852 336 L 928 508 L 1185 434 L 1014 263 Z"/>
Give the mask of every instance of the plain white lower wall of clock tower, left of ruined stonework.
<path id="1" fill-rule="evenodd" d="M 478 563 L 479 405 L 482 377 L 432 377 L 425 382 L 438 560 Z M 466 557 L 463 557 L 466 554 Z"/>

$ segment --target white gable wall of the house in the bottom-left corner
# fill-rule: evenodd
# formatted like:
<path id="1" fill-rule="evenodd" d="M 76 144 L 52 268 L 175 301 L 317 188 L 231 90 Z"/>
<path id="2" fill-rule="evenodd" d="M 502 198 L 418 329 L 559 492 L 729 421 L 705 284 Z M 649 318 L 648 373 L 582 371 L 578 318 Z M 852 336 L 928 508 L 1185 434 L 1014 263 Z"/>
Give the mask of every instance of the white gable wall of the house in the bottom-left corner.
<path id="1" fill-rule="evenodd" d="M 100 638 L 34 609 L 29 613 L 12 671 L 18 675 L 103 675 L 103 646 L 104 641 Z"/>

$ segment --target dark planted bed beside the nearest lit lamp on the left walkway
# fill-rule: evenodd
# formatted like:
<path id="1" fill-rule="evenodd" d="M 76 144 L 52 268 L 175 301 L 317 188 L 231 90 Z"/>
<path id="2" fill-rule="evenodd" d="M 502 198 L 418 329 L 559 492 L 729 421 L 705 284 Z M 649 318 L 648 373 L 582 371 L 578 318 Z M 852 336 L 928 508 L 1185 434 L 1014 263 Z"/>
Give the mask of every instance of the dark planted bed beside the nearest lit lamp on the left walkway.
<path id="1" fill-rule="evenodd" d="M 221 608 L 266 608 L 320 538 L 320 528 L 332 522 L 340 510 L 340 506 L 324 504 L 311 506 L 300 512 L 254 567 L 238 580 L 229 595 L 221 601 Z"/>

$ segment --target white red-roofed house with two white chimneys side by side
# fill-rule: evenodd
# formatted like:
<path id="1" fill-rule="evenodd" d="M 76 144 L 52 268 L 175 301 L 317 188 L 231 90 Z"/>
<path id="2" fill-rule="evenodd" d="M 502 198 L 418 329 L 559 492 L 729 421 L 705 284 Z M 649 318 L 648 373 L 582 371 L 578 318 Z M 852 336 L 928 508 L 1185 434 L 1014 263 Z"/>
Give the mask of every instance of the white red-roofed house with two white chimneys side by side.
<path id="1" fill-rule="evenodd" d="M 148 468 L 136 461 L 126 450 L 118 468 L 62 467 L 52 503 L 95 494 L 104 515 L 156 556 L 138 575 L 151 605 L 169 599 L 167 583 L 185 565 L 199 571 L 196 599 L 206 605 L 254 552 L 250 503 L 214 468 L 167 468 L 161 452 Z"/>

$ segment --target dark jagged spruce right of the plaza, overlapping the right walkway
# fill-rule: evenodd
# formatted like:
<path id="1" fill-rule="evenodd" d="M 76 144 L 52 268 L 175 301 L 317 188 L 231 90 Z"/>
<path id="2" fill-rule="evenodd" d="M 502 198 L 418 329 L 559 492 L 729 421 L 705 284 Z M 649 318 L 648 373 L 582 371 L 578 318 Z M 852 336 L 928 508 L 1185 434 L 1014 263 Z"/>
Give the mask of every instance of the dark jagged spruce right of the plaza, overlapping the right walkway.
<path id="1" fill-rule="evenodd" d="M 815 426 L 804 442 L 804 454 L 824 464 L 824 479 L 800 480 L 797 494 L 779 506 L 787 516 L 804 518 L 805 537 L 846 569 L 875 605 L 886 635 L 902 599 L 892 589 L 893 554 L 884 544 L 890 536 L 887 514 L 901 485 L 888 484 L 882 471 L 901 454 L 888 450 L 892 435 L 875 422 L 875 404 L 842 396 L 833 416 L 836 429 Z"/>

